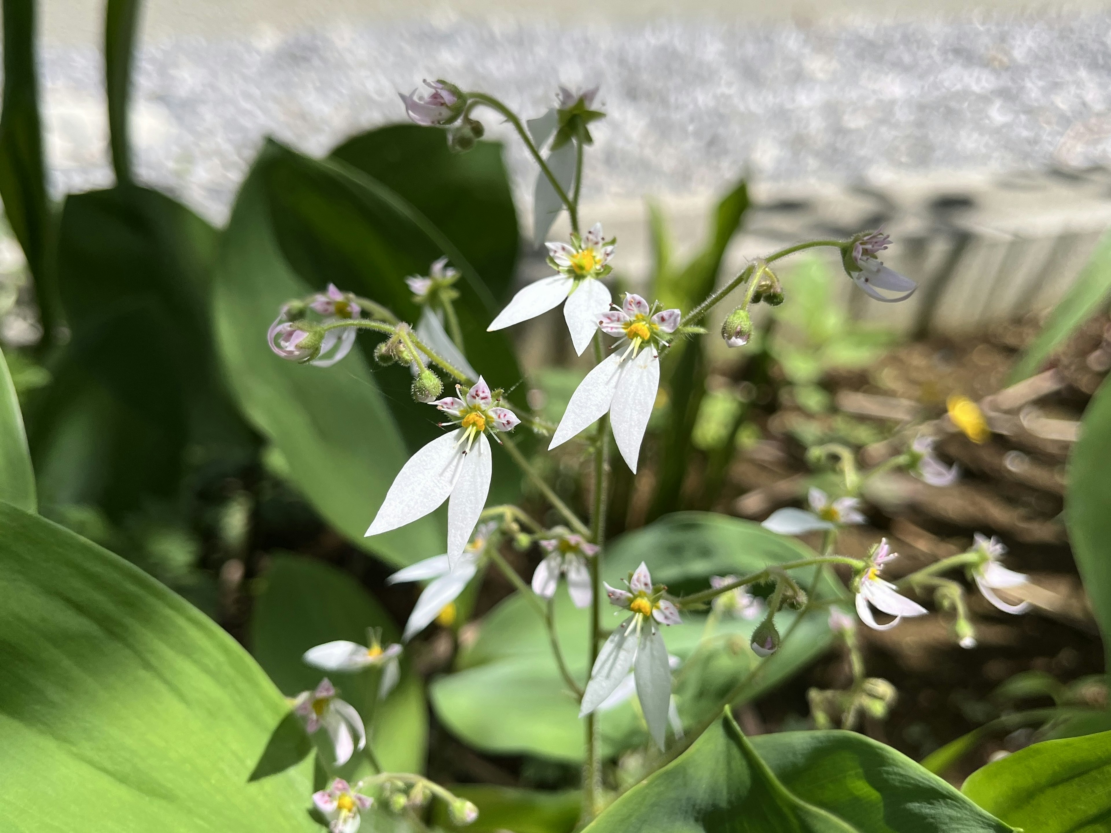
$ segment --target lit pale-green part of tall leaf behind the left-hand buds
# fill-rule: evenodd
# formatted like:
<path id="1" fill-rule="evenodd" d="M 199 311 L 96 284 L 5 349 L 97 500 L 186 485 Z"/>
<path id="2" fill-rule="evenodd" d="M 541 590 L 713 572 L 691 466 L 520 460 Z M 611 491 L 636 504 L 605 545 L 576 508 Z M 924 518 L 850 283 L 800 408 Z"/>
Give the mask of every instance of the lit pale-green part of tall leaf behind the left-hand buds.
<path id="1" fill-rule="evenodd" d="M 213 293 L 219 350 L 243 413 L 282 452 L 291 482 L 317 511 L 358 546 L 409 564 L 443 552 L 443 525 L 430 515 L 372 541 L 363 538 L 409 456 L 363 355 L 352 351 L 331 368 L 303 367 L 282 361 L 266 343 L 281 304 L 310 291 L 282 257 L 270 222 L 269 169 L 290 154 L 267 145 L 223 234 Z M 408 370 L 378 375 L 387 374 L 408 377 Z M 422 419 L 432 422 L 434 413 Z"/>

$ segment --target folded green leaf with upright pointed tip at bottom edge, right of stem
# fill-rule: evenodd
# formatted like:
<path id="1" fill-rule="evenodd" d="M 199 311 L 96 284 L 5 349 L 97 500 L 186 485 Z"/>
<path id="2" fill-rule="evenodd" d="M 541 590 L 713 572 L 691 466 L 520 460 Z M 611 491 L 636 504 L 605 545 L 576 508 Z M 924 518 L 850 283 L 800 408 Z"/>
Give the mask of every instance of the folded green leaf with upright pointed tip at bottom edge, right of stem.
<path id="1" fill-rule="evenodd" d="M 751 742 L 728 714 L 632 787 L 590 833 L 1003 833 L 957 790 L 850 732 Z"/>

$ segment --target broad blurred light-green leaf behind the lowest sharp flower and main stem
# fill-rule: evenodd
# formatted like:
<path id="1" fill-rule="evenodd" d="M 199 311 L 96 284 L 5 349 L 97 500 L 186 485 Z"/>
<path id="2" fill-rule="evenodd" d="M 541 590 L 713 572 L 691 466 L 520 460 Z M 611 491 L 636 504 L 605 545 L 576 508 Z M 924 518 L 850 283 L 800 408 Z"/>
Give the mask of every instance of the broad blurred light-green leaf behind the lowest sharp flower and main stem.
<path id="1" fill-rule="evenodd" d="M 701 590 L 714 574 L 744 574 L 775 562 L 807 558 L 793 539 L 768 532 L 750 521 L 714 514 L 681 513 L 617 539 L 605 552 L 604 578 L 620 583 L 643 560 L 654 581 L 672 592 Z M 809 583 L 813 571 L 799 579 Z M 831 592 L 824 585 L 823 593 Z M 621 621 L 615 608 L 603 610 L 603 626 Z M 784 612 L 780 628 L 793 615 Z M 705 618 L 684 614 L 684 624 L 663 629 L 668 650 L 684 660 L 695 655 Z M 587 675 L 585 610 L 571 604 L 560 590 L 556 596 L 560 644 L 571 673 Z M 712 717 L 720 701 L 758 664 L 748 641 L 757 622 L 729 620 L 719 628 L 712 650 L 703 650 L 679 678 L 675 697 L 688 725 Z M 817 658 L 829 644 L 824 613 L 812 613 L 761 672 L 752 678 L 741 700 L 778 685 Z M 548 646 L 539 616 L 520 595 L 512 595 L 481 623 L 479 638 L 458 661 L 458 670 L 437 679 L 430 695 L 440 720 L 468 743 L 490 752 L 532 753 L 565 761 L 582 759 L 582 723 L 578 703 L 567 692 Z M 607 754 L 615 754 L 647 735 L 633 703 L 601 714 Z"/>

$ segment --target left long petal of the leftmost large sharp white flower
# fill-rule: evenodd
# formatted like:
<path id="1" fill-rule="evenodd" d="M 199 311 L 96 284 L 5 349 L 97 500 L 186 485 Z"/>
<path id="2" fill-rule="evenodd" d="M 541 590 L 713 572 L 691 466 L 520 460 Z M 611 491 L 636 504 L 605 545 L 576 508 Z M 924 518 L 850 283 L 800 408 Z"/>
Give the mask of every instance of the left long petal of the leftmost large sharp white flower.
<path id="1" fill-rule="evenodd" d="M 409 458 L 386 493 L 368 535 L 412 523 L 448 500 L 462 471 L 463 455 L 456 444 L 458 440 L 459 431 L 452 431 Z"/>

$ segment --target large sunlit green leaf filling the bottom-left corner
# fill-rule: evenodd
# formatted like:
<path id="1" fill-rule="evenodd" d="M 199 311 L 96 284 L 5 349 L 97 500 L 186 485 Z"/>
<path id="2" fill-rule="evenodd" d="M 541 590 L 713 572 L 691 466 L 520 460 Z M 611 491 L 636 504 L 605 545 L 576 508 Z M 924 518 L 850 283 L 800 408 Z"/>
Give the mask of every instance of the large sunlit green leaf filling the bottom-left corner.
<path id="1" fill-rule="evenodd" d="M 8 829 L 318 830 L 307 767 L 248 783 L 289 706 L 231 636 L 49 521 L 0 504 L 0 529 Z"/>

